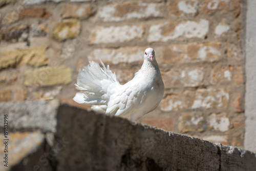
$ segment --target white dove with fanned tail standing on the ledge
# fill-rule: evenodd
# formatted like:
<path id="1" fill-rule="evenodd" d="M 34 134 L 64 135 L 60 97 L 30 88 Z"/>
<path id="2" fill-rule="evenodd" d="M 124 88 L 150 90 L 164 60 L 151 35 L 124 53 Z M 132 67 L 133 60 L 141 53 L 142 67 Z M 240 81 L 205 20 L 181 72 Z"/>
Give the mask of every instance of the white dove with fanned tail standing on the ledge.
<path id="1" fill-rule="evenodd" d="M 101 61 L 100 61 L 101 62 Z M 121 85 L 115 72 L 97 62 L 79 71 L 74 101 L 80 104 L 92 105 L 96 112 L 111 116 L 120 116 L 137 120 L 154 110 L 163 98 L 164 84 L 155 58 L 155 51 L 147 48 L 144 52 L 144 62 L 134 78 Z"/>

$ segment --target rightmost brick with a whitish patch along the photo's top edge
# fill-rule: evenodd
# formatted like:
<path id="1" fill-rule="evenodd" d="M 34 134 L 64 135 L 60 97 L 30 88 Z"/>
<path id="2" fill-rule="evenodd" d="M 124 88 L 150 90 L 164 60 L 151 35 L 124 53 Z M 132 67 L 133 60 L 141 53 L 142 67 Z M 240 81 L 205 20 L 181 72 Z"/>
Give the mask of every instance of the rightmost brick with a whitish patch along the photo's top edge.
<path id="1" fill-rule="evenodd" d="M 229 11 L 229 0 L 205 0 L 201 5 L 202 14 L 214 14 L 220 12 L 222 14 Z"/>

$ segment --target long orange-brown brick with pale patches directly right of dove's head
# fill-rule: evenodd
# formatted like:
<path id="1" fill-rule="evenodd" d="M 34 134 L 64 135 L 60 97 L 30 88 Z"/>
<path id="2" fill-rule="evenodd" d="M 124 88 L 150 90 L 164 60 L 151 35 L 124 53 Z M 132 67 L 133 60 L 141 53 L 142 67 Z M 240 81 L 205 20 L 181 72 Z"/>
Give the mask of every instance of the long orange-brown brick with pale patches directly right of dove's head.
<path id="1" fill-rule="evenodd" d="M 155 48 L 156 59 L 159 64 L 182 64 L 194 62 L 214 62 L 221 56 L 221 43 L 204 44 L 188 43 Z"/>

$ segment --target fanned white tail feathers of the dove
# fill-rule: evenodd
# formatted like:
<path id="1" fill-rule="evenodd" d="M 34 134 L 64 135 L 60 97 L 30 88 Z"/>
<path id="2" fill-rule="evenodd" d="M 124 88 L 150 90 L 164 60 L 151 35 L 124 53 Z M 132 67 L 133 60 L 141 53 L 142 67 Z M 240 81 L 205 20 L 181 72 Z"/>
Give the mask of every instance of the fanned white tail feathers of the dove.
<path id="1" fill-rule="evenodd" d="M 79 70 L 75 86 L 80 92 L 76 93 L 73 100 L 80 104 L 99 105 L 92 106 L 92 109 L 103 112 L 115 87 L 120 84 L 109 65 L 105 67 L 101 60 L 100 63 L 102 68 L 97 62 L 90 61 L 88 66 Z"/>

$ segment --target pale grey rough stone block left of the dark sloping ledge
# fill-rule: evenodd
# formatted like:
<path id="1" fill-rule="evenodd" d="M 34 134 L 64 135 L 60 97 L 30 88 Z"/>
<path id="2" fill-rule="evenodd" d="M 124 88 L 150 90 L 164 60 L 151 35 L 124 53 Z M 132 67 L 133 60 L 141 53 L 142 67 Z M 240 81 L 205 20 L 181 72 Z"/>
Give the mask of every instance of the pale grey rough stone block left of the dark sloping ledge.
<path id="1" fill-rule="evenodd" d="M 8 129 L 40 130 L 42 132 L 55 132 L 56 111 L 58 101 L 24 101 L 19 103 L 0 103 L 0 127 L 4 126 L 4 115 L 8 115 Z M 4 129 L 1 129 L 1 131 Z"/>

